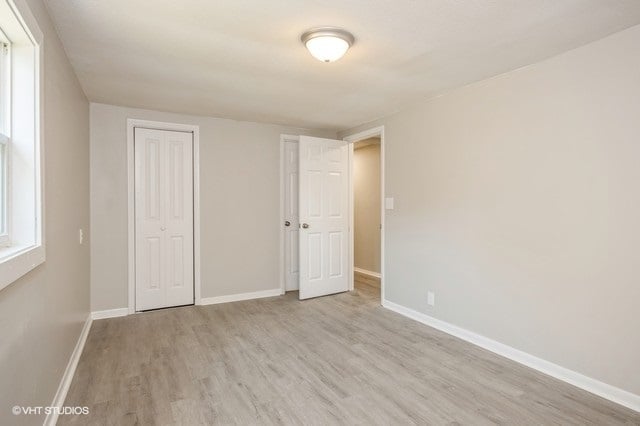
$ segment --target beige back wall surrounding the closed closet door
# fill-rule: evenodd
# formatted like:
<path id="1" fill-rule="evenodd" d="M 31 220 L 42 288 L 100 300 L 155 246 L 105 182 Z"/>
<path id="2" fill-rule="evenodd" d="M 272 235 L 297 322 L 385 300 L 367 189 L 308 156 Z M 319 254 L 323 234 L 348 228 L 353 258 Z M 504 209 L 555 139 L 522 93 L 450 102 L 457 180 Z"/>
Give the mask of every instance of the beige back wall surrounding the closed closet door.
<path id="1" fill-rule="evenodd" d="M 127 118 L 200 126 L 202 297 L 280 287 L 280 134 L 268 124 L 91 104 L 91 308 L 127 301 Z"/>

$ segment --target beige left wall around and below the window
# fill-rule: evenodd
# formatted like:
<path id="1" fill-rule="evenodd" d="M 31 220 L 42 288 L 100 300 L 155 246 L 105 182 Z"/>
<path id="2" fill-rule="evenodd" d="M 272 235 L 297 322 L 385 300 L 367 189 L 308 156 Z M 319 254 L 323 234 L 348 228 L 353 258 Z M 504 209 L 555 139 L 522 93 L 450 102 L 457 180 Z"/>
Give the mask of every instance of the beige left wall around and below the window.
<path id="1" fill-rule="evenodd" d="M 47 259 L 0 290 L 3 425 L 42 424 L 11 407 L 51 404 L 89 312 L 89 104 L 43 4 L 27 3 L 44 34 Z"/>

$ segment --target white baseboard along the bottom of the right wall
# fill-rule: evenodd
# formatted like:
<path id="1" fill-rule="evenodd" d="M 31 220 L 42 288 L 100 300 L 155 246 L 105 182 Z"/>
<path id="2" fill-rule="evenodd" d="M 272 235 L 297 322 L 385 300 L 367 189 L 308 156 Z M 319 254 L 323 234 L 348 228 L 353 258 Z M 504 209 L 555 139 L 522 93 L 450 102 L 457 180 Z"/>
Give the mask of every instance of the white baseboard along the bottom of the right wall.
<path id="1" fill-rule="evenodd" d="M 414 311 L 413 309 L 406 308 L 402 305 L 389 302 L 388 300 L 384 300 L 382 302 L 382 306 L 404 315 L 405 317 L 411 318 L 440 331 L 444 331 L 445 333 L 458 337 L 462 340 L 466 340 L 469 343 L 473 343 L 476 346 L 480 346 L 481 348 L 501 355 L 512 361 L 526 365 L 527 367 L 538 370 L 551 377 L 555 377 L 563 382 L 567 382 L 580 389 L 586 390 L 587 392 L 591 392 L 595 395 L 601 396 L 602 398 L 640 412 L 640 395 L 636 395 L 596 379 L 592 379 L 591 377 L 569 370 L 568 368 L 545 361 L 544 359 L 512 348 L 511 346 L 496 342 L 495 340 L 491 340 L 472 331 L 430 317 L 429 315 Z"/>

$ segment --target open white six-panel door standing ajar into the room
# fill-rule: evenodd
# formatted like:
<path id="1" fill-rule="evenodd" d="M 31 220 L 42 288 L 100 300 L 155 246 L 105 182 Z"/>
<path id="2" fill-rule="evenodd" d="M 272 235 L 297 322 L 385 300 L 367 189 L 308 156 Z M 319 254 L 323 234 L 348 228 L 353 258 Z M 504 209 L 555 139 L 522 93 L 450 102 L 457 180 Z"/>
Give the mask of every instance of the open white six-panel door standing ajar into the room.
<path id="1" fill-rule="evenodd" d="M 349 145 L 300 136 L 300 299 L 349 290 Z"/>

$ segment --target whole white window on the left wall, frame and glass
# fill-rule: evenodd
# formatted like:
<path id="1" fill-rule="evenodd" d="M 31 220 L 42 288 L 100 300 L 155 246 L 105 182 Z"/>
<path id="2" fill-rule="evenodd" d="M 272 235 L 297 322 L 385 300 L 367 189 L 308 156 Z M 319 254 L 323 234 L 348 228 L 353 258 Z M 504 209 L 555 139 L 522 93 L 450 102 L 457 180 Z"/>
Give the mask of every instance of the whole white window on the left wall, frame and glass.
<path id="1" fill-rule="evenodd" d="M 41 149 L 44 37 L 26 0 L 0 0 L 0 28 L 11 46 L 7 114 L 10 119 L 2 128 L 8 134 L 0 142 L 8 148 L 5 155 L 8 246 L 0 246 L 2 290 L 45 261 Z M 14 188 L 16 184 L 24 186 Z M 26 207 L 22 208 L 23 205 Z"/>

